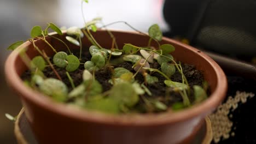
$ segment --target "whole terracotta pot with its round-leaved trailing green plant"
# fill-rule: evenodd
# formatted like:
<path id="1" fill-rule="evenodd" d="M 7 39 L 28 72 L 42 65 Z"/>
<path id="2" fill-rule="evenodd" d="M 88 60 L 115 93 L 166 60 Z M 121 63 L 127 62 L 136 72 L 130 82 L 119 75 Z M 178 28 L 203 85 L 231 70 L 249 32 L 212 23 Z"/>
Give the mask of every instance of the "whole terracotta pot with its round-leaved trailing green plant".
<path id="1" fill-rule="evenodd" d="M 144 34 L 97 29 L 98 21 L 66 31 L 35 26 L 30 40 L 9 47 L 18 48 L 5 63 L 7 82 L 39 143 L 187 142 L 225 96 L 222 69 L 195 48 L 162 38 L 158 25 Z M 196 68 L 190 75 L 203 74 L 208 98 L 207 86 L 187 80 L 186 64 Z"/>

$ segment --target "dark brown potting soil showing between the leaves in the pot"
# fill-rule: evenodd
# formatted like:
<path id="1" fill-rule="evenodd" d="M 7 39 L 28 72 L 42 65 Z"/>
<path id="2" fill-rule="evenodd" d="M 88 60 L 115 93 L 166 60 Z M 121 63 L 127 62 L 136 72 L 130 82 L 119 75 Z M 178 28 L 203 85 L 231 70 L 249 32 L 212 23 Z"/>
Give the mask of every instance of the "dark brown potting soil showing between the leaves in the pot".
<path id="1" fill-rule="evenodd" d="M 79 51 L 75 51 L 74 55 L 79 56 Z M 90 59 L 91 59 L 91 55 L 89 52 L 83 53 L 81 63 L 90 61 Z M 50 61 L 52 61 L 51 58 L 50 58 Z M 132 65 L 133 64 L 131 62 L 123 62 L 121 64 L 113 65 L 113 68 L 123 67 L 127 70 L 130 70 L 134 74 L 134 73 L 136 73 L 136 71 L 132 69 Z M 71 86 L 71 83 L 66 75 L 66 70 L 63 68 L 58 68 L 55 65 L 54 65 L 54 68 L 56 69 L 57 73 L 60 75 L 62 81 L 67 85 L 69 92 L 72 91 L 72 86 Z M 150 64 L 150 68 L 159 69 L 160 65 L 157 62 L 155 62 L 153 64 Z M 203 75 L 200 70 L 195 69 L 194 65 L 182 63 L 182 69 L 183 69 L 183 73 L 184 73 L 185 77 L 187 78 L 189 86 L 190 86 L 191 94 L 188 95 L 189 100 L 194 101 L 192 87 L 193 87 L 193 85 L 202 86 L 202 82 L 204 80 Z M 111 76 L 112 76 L 111 71 L 112 70 L 109 67 L 108 68 L 106 67 L 106 68 L 102 68 L 100 70 L 95 71 L 95 79 L 101 83 L 104 92 L 108 91 L 112 87 L 112 85 L 108 82 L 109 79 L 111 79 Z M 78 85 L 80 85 L 80 83 L 83 82 L 83 77 L 82 77 L 83 71 L 84 71 L 84 64 L 81 64 L 77 70 L 75 70 L 73 72 L 69 72 L 69 75 L 71 75 L 75 86 L 78 86 Z M 55 75 L 54 71 L 50 67 L 46 67 L 43 70 L 43 73 L 48 78 L 57 79 L 57 76 Z M 182 96 L 181 96 L 181 94 L 179 94 L 179 92 L 173 91 L 173 88 L 171 88 L 171 87 L 166 87 L 166 85 L 164 83 L 164 81 L 166 79 L 164 76 L 162 76 L 159 73 L 152 73 L 150 75 L 158 77 L 159 82 L 154 83 L 152 85 L 147 85 L 147 88 L 152 93 L 152 95 L 149 96 L 147 93 L 145 93 L 143 95 L 143 97 L 146 97 L 149 99 L 157 99 L 157 100 L 161 101 L 162 103 L 166 104 L 168 107 L 172 106 L 174 103 L 183 101 Z M 27 70 L 21 76 L 21 78 L 23 80 L 30 80 L 30 77 L 31 77 L 31 73 L 29 70 Z M 141 73 L 138 73 L 135 77 L 135 80 L 138 83 L 143 83 L 144 77 Z M 182 82 L 182 76 L 176 70 L 176 73 L 174 73 L 171 76 L 171 80 L 176 81 L 176 82 Z M 68 101 L 70 101 L 70 100 L 68 100 Z M 135 109 L 139 109 L 139 112 L 142 112 L 142 113 L 150 112 L 149 108 L 148 107 L 146 108 L 146 104 L 144 103 L 144 100 L 142 99 L 142 97 L 140 97 L 139 103 L 137 103 L 137 105 L 135 106 Z"/>

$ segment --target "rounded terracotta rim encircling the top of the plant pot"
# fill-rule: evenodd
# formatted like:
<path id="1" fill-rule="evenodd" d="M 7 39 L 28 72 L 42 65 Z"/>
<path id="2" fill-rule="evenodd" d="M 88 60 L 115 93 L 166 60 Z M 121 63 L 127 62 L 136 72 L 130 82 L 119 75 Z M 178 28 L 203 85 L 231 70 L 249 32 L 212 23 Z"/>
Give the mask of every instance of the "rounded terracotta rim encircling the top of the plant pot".
<path id="1" fill-rule="evenodd" d="M 130 31 L 114 30 L 113 32 L 139 34 L 137 32 Z M 191 51 L 197 53 L 197 55 L 205 59 L 211 65 L 211 67 L 213 67 L 214 72 L 217 75 L 217 86 L 215 91 L 212 92 L 212 94 L 205 101 L 202 101 L 200 104 L 193 105 L 187 109 L 178 112 L 167 111 L 156 114 L 136 113 L 127 115 L 111 115 L 102 112 L 78 109 L 77 107 L 71 107 L 66 104 L 56 103 L 49 97 L 45 97 L 45 95 L 25 86 L 24 82 L 20 79 L 20 76 L 16 73 L 15 59 L 19 56 L 18 51 L 30 45 L 30 41 L 26 41 L 24 44 L 20 45 L 8 56 L 7 61 L 5 62 L 5 79 L 7 79 L 7 83 L 11 88 L 18 92 L 19 95 L 22 95 L 22 99 L 30 101 L 30 103 L 38 105 L 39 107 L 42 107 L 43 109 L 46 109 L 48 111 L 52 111 L 55 114 L 62 115 L 68 118 L 78 119 L 80 121 L 123 126 L 147 126 L 182 122 L 198 116 L 205 117 L 211 111 L 213 111 L 225 97 L 228 88 L 228 82 L 226 80 L 224 71 L 215 61 L 213 61 L 212 58 L 210 58 L 203 52 L 198 53 L 197 51 L 199 50 L 195 49 L 194 47 L 182 44 L 176 40 L 172 40 L 169 38 L 163 38 L 163 40 L 167 40 L 173 44 L 185 47 L 185 49 L 190 49 Z"/>

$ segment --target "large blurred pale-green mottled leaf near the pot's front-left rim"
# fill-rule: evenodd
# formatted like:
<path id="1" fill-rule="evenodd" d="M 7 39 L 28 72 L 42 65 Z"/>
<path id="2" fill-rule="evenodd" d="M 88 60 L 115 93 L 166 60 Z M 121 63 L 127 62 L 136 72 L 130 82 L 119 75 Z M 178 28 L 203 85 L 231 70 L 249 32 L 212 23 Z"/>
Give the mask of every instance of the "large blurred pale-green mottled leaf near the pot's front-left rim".
<path id="1" fill-rule="evenodd" d="M 53 78 L 45 79 L 39 86 L 39 89 L 42 93 L 53 97 L 56 101 L 65 101 L 68 94 L 68 88 L 65 83 Z"/>

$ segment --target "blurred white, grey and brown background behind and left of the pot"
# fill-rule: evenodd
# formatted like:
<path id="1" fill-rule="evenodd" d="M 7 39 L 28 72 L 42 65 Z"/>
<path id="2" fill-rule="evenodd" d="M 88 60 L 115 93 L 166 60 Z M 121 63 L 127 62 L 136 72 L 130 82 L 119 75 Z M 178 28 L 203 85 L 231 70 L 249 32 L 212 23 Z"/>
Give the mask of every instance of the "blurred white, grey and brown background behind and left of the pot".
<path id="1" fill-rule="evenodd" d="M 162 3 L 162 0 L 89 0 L 89 4 L 83 4 L 83 8 L 86 20 L 102 17 L 104 23 L 126 21 L 144 32 L 147 32 L 150 25 L 158 23 L 167 31 L 168 27 L 161 13 Z M 16 116 L 22 107 L 19 98 L 11 93 L 5 84 L 4 62 L 10 53 L 6 49 L 15 41 L 29 38 L 33 26 L 46 27 L 47 22 L 56 23 L 59 27 L 82 27 L 81 1 L 0 1 L 0 143 L 16 143 L 14 124 L 5 118 L 4 113 Z M 122 23 L 110 28 L 131 30 Z"/>

